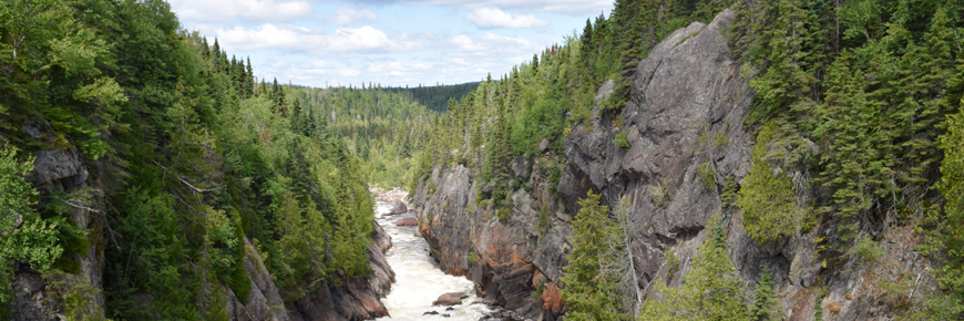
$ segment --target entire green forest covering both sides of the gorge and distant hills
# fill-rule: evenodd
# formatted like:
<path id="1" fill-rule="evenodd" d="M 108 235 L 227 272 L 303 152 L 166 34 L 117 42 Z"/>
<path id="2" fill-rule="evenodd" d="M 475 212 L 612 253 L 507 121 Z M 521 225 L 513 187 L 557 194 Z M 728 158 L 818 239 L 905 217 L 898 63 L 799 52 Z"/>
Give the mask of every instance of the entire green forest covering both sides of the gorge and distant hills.
<path id="1" fill-rule="evenodd" d="M 470 168 L 489 186 L 471 208 L 507 221 L 512 193 L 536 188 L 513 176 L 514 159 L 546 173 L 556 196 L 573 127 L 602 113 L 622 128 L 640 60 L 728 8 L 725 37 L 755 93 L 739 125 L 756 145 L 747 177 L 719 184 L 725 209 L 760 245 L 832 226 L 821 250 L 866 260 L 885 255 L 884 230 L 911 229 L 941 290 L 901 301 L 899 317 L 964 318 L 960 0 L 618 0 L 504 74 L 414 89 L 257 81 L 249 60 L 182 29 L 162 0 L 0 7 L 0 318 L 14 313 L 17 278 L 39 275 L 70 320 L 226 320 L 217 289 L 250 290 L 252 251 L 290 304 L 319 282 L 367 277 L 369 187 L 434 191 L 434 168 Z M 614 93 L 597 104 L 607 81 Z M 627 132 L 613 143 L 628 149 Z M 79 155 L 83 182 L 41 182 L 50 153 Z M 719 215 L 685 284 L 656 282 L 634 309 L 604 263 L 625 259 L 611 246 L 628 232 L 623 209 L 594 193 L 578 204 L 566 320 L 779 320 L 769 272 L 736 281 Z M 83 278 L 94 249 L 100 284 Z"/>

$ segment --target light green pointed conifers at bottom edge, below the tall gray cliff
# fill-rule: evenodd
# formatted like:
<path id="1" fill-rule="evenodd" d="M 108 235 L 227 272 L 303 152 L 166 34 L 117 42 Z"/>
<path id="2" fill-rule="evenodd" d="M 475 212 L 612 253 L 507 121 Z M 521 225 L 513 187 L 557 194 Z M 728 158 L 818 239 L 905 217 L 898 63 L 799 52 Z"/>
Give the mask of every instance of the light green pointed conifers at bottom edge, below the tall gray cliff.
<path id="1" fill-rule="evenodd" d="M 707 227 L 719 220 L 720 215 L 714 215 Z M 683 286 L 667 288 L 662 279 L 654 281 L 654 296 L 643 302 L 640 320 L 750 320 L 726 246 L 712 241 L 725 239 L 722 231 L 715 229 L 699 247 Z"/>

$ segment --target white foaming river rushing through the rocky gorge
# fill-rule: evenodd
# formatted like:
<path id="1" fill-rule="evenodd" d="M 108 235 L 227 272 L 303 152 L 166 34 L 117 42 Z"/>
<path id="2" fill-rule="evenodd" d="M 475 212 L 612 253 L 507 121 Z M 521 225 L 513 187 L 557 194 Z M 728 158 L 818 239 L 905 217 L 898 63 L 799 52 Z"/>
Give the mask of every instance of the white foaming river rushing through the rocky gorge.
<path id="1" fill-rule="evenodd" d="M 414 217 L 414 214 L 381 218 L 382 214 L 391 210 L 391 203 L 378 201 L 375 206 L 378 224 L 391 236 L 392 245 L 386 252 L 386 258 L 396 273 L 391 292 L 381 299 L 391 317 L 378 320 L 475 321 L 492 312 L 486 304 L 472 304 L 473 301 L 479 300 L 472 281 L 442 272 L 439 263 L 429 255 L 429 244 L 422 237 L 414 235 L 416 227 L 396 226 L 397 220 Z M 445 311 L 447 307 L 432 307 L 432 301 L 448 292 L 465 292 L 469 298 L 462 300 L 462 304 L 452 306 L 451 311 Z M 431 311 L 439 312 L 439 315 L 423 315 Z M 442 314 L 450 317 L 442 317 Z"/>

